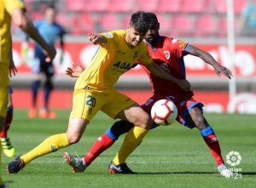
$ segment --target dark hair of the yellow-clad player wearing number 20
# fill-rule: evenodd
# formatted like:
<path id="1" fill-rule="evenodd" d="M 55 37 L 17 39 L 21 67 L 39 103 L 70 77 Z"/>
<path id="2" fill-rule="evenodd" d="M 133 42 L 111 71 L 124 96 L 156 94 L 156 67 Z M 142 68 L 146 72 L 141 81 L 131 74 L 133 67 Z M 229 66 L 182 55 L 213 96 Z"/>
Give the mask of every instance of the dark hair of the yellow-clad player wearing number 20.
<path id="1" fill-rule="evenodd" d="M 150 17 L 143 11 L 137 11 L 131 15 L 130 26 L 136 31 L 146 33 L 149 29 Z"/>

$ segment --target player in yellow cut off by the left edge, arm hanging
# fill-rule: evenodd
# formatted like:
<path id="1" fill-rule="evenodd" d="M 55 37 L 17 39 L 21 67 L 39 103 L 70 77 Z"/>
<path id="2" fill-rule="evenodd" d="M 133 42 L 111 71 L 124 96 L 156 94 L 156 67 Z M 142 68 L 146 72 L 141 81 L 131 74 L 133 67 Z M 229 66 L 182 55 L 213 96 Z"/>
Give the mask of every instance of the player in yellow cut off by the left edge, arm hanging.
<path id="1" fill-rule="evenodd" d="M 49 59 L 54 59 L 55 48 L 49 46 L 38 34 L 32 22 L 26 16 L 26 6 L 21 0 L 0 0 L 0 129 L 2 130 L 8 104 L 9 63 L 12 60 L 10 26 L 13 20 L 16 26 L 37 41 Z M 0 151 L 1 153 L 1 151 Z M 0 178 L 0 187 L 4 187 Z"/>

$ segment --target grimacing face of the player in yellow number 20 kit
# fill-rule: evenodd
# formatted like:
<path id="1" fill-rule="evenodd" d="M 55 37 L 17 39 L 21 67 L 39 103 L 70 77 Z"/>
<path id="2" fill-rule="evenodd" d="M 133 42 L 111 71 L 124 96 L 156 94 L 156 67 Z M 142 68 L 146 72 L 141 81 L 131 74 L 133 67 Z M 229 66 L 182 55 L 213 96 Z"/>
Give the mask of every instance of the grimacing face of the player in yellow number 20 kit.
<path id="1" fill-rule="evenodd" d="M 137 47 L 140 43 L 143 42 L 145 35 L 146 33 L 138 32 L 133 27 L 129 26 L 127 28 L 125 39 L 131 47 Z"/>

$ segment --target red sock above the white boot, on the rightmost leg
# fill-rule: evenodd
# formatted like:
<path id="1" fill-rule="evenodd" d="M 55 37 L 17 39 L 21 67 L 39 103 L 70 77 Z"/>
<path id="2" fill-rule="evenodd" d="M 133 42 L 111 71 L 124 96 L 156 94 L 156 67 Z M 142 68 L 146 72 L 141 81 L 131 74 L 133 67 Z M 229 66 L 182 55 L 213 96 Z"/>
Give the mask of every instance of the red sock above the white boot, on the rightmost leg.
<path id="1" fill-rule="evenodd" d="M 210 134 L 207 136 L 203 136 L 203 138 L 204 138 L 205 142 L 207 143 L 208 148 L 211 151 L 212 156 L 214 157 L 217 165 L 219 166 L 222 163 L 224 163 L 224 160 L 221 157 L 220 146 L 218 144 L 216 135 L 213 133 L 213 134 Z"/>

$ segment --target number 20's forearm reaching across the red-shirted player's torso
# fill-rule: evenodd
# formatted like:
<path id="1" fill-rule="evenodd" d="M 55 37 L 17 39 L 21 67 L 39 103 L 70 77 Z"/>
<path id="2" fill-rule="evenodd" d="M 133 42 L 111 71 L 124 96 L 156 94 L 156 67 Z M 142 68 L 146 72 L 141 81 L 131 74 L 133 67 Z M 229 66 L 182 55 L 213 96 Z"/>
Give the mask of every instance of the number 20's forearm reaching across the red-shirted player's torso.
<path id="1" fill-rule="evenodd" d="M 156 63 L 154 63 L 154 61 L 152 61 L 151 64 L 147 65 L 146 68 L 155 77 L 160 77 L 164 80 L 168 80 L 172 83 L 176 83 L 184 91 L 190 91 L 191 86 L 187 80 L 179 80 L 176 77 L 172 77 L 172 75 L 170 75 L 166 71 L 164 71 L 160 66 L 158 66 Z"/>

